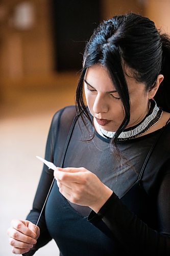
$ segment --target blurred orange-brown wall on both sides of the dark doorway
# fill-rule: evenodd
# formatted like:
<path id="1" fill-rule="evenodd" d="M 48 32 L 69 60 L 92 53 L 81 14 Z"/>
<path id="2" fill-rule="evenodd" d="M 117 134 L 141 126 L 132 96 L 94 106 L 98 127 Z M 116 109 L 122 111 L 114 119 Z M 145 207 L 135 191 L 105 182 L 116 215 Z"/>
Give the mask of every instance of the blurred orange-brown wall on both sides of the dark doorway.
<path id="1" fill-rule="evenodd" d="M 35 10 L 35 23 L 22 31 L 13 26 L 16 6 L 31 2 Z M 0 6 L 0 74 L 1 83 L 19 78 L 56 75 L 53 72 L 53 42 L 51 31 L 50 1 L 3 0 Z M 150 17 L 158 27 L 170 32 L 170 0 L 103 0 L 102 19 L 115 14 L 136 12 Z M 22 80 L 23 82 L 23 80 Z M 8 82 L 7 82 L 8 83 Z"/>

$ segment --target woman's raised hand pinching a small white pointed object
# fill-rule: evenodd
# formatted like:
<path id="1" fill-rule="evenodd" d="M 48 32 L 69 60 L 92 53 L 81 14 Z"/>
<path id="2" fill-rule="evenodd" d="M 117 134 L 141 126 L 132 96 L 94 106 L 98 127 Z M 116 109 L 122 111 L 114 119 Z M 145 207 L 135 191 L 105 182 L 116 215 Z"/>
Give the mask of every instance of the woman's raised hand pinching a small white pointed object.
<path id="1" fill-rule="evenodd" d="M 60 193 L 71 203 L 89 206 L 96 213 L 113 191 L 84 167 L 60 168 L 54 171 Z"/>

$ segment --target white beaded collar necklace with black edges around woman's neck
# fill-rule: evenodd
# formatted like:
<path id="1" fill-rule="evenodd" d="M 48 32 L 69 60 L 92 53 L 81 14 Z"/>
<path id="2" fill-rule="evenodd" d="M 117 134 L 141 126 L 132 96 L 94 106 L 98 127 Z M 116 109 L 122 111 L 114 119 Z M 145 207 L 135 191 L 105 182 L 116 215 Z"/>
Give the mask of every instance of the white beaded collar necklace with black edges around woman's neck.
<path id="1" fill-rule="evenodd" d="M 150 109 L 148 111 L 148 114 L 144 117 L 144 119 L 137 125 L 125 129 L 122 133 L 120 133 L 117 140 L 123 141 L 134 139 L 137 136 L 148 131 L 153 125 L 155 125 L 160 120 L 163 111 L 160 108 L 158 108 L 155 100 L 151 100 L 150 102 Z M 114 137 L 115 132 L 106 131 L 97 122 L 96 124 L 98 125 L 103 137 L 109 140 Z"/>

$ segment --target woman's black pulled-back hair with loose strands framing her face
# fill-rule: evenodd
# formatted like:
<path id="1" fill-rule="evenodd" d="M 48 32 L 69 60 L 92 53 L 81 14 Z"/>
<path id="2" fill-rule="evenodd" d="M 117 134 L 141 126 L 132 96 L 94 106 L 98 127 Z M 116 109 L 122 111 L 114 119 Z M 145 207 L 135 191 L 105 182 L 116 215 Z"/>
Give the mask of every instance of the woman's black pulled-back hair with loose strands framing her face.
<path id="1" fill-rule="evenodd" d="M 83 99 L 83 81 L 88 67 L 101 63 L 110 74 L 114 86 L 122 100 L 125 118 L 112 140 L 125 129 L 130 120 L 130 100 L 124 75 L 125 64 L 133 71 L 133 77 L 150 90 L 157 76 L 163 74 L 155 100 L 162 110 L 170 113 L 170 40 L 168 35 L 160 34 L 154 22 L 135 13 L 116 15 L 101 23 L 93 32 L 86 45 L 83 68 L 76 91 L 77 111 L 84 124 L 90 119 Z"/>

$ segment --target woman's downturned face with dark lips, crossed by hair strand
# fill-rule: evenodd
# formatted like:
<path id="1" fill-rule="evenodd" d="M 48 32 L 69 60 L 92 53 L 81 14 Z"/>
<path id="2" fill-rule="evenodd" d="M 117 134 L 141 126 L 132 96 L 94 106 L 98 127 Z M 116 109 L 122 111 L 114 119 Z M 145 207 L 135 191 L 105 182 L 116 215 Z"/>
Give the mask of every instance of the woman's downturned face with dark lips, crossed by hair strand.
<path id="1" fill-rule="evenodd" d="M 148 112 L 149 93 L 145 85 L 125 75 L 130 97 L 130 122 L 127 127 L 139 123 Z M 123 122 L 125 114 L 107 69 L 96 64 L 87 69 L 84 91 L 92 116 L 107 131 L 115 132 Z"/>

